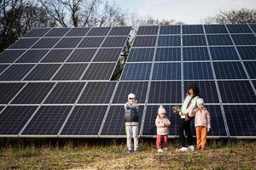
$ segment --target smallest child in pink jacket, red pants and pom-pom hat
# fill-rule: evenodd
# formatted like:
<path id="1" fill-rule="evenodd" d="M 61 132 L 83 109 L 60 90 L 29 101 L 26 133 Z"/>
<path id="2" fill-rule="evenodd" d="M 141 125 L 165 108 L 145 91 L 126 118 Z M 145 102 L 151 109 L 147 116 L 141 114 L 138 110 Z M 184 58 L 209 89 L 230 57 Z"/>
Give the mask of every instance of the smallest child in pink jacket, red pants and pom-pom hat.
<path id="1" fill-rule="evenodd" d="M 156 148 L 159 152 L 167 150 L 170 125 L 171 122 L 166 117 L 166 110 L 162 105 L 160 105 L 160 108 L 158 109 L 158 116 L 156 116 L 155 119 L 155 126 L 157 127 Z"/>

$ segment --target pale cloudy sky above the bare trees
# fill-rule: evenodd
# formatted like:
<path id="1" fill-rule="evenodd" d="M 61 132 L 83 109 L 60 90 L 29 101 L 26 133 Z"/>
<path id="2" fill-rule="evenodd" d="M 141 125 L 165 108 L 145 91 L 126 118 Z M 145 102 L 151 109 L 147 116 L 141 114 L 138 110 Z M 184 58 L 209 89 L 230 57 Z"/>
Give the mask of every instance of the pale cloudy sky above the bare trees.
<path id="1" fill-rule="evenodd" d="M 111 1 L 110 1 L 111 2 Z M 256 8 L 256 0 L 114 0 L 125 12 L 157 19 L 202 24 L 208 16 L 237 8 Z"/>

